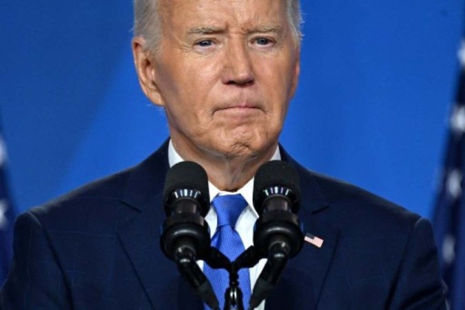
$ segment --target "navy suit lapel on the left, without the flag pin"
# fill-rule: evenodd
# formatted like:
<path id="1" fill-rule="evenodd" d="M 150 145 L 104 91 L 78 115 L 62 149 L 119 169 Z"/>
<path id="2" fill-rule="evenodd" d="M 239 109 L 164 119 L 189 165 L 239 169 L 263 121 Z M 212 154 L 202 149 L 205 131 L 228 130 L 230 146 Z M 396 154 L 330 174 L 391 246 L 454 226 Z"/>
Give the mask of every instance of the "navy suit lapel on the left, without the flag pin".
<path id="1" fill-rule="evenodd" d="M 196 309 L 193 305 L 201 307 L 201 302 L 159 244 L 160 227 L 166 218 L 162 192 L 169 169 L 167 148 L 166 141 L 134 167 L 122 197 L 133 216 L 122 215 L 118 236 L 154 309 Z"/>

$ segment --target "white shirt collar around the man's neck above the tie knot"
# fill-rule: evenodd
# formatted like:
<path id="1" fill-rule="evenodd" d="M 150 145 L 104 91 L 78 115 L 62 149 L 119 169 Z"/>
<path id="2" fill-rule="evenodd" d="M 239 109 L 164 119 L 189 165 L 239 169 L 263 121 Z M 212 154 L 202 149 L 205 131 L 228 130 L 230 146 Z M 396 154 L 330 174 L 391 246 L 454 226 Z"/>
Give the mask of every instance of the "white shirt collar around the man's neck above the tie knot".
<path id="1" fill-rule="evenodd" d="M 280 161 L 281 160 L 281 155 L 279 151 L 279 146 L 276 147 L 276 151 L 274 152 L 273 156 L 271 156 L 270 161 Z M 184 159 L 176 152 L 176 149 L 174 149 L 174 145 L 171 141 L 169 140 L 169 146 L 168 146 L 168 161 L 169 161 L 169 167 L 172 167 L 176 165 L 177 163 L 180 163 L 181 161 L 184 161 Z M 241 194 L 242 197 L 244 197 L 245 201 L 249 204 L 249 206 L 252 207 L 252 209 L 255 208 L 254 206 L 254 178 L 251 178 L 243 187 L 238 189 L 237 192 L 225 192 L 225 191 L 220 191 L 215 185 L 211 184 L 211 182 L 208 182 L 208 190 L 210 194 L 210 202 L 213 200 L 213 198 L 216 197 L 216 195 L 228 195 L 228 194 Z M 256 214 L 258 216 L 258 214 Z"/>

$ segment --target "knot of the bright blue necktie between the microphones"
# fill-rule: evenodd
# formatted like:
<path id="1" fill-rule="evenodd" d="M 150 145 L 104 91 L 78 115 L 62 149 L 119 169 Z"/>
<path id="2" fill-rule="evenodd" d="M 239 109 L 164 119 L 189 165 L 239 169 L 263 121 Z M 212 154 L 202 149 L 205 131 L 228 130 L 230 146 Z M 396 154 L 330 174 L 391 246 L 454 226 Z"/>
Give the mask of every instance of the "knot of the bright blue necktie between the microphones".
<path id="1" fill-rule="evenodd" d="M 215 208 L 219 228 L 224 225 L 235 227 L 240 214 L 248 204 L 242 195 L 234 194 L 216 196 L 211 205 Z"/>

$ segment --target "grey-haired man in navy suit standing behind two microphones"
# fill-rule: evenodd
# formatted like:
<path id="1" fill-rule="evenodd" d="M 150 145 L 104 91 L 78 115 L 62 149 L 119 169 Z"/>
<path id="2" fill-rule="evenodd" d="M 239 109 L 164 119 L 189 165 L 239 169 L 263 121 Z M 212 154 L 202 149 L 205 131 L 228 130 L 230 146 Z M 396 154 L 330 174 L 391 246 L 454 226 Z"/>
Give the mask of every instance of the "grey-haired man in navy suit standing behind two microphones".
<path id="1" fill-rule="evenodd" d="M 167 169 L 195 161 L 211 198 L 241 194 L 235 229 L 247 248 L 252 179 L 271 159 L 298 170 L 300 220 L 323 243 L 304 245 L 260 309 L 446 308 L 426 220 L 309 172 L 278 146 L 298 83 L 298 0 L 136 0 L 135 17 L 134 63 L 170 140 L 18 218 L 3 309 L 203 309 L 158 245 Z M 251 287 L 262 267 L 249 270 Z"/>

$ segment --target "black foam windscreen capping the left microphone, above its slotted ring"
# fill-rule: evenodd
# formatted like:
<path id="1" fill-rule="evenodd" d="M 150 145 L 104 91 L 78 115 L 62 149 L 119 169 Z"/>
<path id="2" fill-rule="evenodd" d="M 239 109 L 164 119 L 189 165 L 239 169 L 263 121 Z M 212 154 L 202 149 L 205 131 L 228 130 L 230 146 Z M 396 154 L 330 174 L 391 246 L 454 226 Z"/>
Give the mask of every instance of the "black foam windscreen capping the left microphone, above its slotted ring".
<path id="1" fill-rule="evenodd" d="M 207 172 L 193 161 L 182 161 L 168 170 L 163 200 L 166 200 L 177 189 L 197 189 L 207 203 L 210 202 Z"/>

